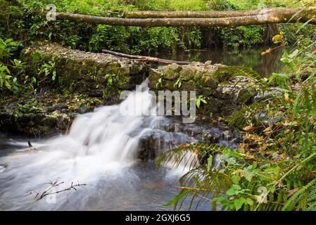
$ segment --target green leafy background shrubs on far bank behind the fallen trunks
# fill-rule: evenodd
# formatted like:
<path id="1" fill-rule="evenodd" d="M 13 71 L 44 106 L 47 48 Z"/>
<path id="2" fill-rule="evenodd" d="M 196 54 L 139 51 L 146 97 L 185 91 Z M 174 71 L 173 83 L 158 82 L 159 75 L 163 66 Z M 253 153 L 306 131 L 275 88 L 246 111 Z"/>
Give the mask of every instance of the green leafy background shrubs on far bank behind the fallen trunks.
<path id="1" fill-rule="evenodd" d="M 6 2 L 5 0 L 1 0 Z M 172 51 L 177 49 L 196 49 L 209 47 L 204 38 L 213 39 L 211 44 L 238 49 L 258 46 L 265 41 L 264 26 L 248 26 L 234 28 L 200 27 L 120 27 L 110 25 L 94 25 L 75 23 L 68 20 L 46 21 L 44 8 L 47 4 L 55 4 L 57 11 L 67 13 L 82 13 L 87 15 L 103 15 L 122 17 L 121 10 L 154 10 L 154 11 L 208 11 L 208 10 L 239 10 L 257 8 L 259 4 L 276 6 L 265 1 L 26 1 L 11 3 L 8 8 L 16 14 L 23 13 L 23 19 L 17 18 L 4 26 L 1 34 L 13 37 L 23 44 L 38 38 L 56 41 L 63 46 L 84 51 L 100 52 L 102 49 L 121 51 L 123 53 L 156 53 L 157 51 Z M 9 12 L 8 12 L 9 13 Z M 279 32 L 275 30 L 275 32 Z M 310 32 L 303 29 L 301 33 Z M 27 33 L 27 35 L 25 35 Z M 287 34 L 286 34 L 287 35 Z M 202 38 L 204 37 L 204 38 Z M 293 41 L 293 40 L 292 40 Z"/>

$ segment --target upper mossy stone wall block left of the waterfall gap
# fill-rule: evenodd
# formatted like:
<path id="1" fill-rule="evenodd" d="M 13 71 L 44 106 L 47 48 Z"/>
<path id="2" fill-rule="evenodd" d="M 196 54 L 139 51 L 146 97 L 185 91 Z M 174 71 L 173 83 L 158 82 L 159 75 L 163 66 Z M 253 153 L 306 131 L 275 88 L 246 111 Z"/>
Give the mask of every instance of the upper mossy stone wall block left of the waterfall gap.
<path id="1" fill-rule="evenodd" d="M 39 52 L 41 52 L 39 60 L 34 60 L 34 54 Z M 124 89 L 130 82 L 140 84 L 149 68 L 141 61 L 104 53 L 65 49 L 58 44 L 45 41 L 37 41 L 32 46 L 28 46 L 23 51 L 22 58 L 29 65 L 26 73 L 30 75 L 47 60 L 54 58 L 58 82 L 49 84 L 56 89 L 80 91 L 92 97 L 103 96 L 104 89 L 110 91 L 110 94 L 117 95 L 118 89 Z M 108 89 L 106 75 L 115 75 L 115 82 L 110 85 L 115 88 Z"/>

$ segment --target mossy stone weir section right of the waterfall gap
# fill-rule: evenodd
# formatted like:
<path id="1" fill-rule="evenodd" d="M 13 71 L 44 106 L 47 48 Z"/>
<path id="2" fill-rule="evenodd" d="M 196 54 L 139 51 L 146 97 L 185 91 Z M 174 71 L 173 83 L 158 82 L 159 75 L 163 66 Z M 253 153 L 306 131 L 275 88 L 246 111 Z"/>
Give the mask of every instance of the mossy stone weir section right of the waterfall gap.
<path id="1" fill-rule="evenodd" d="M 148 86 L 158 92 L 196 91 L 200 99 L 198 116 L 225 117 L 239 107 L 250 103 L 257 94 L 255 82 L 245 77 L 234 77 L 231 72 L 219 72 L 226 65 L 194 62 L 191 65 L 171 64 L 149 70 Z M 201 101 L 203 99 L 204 101 Z M 196 100 L 197 101 L 197 100 Z"/>

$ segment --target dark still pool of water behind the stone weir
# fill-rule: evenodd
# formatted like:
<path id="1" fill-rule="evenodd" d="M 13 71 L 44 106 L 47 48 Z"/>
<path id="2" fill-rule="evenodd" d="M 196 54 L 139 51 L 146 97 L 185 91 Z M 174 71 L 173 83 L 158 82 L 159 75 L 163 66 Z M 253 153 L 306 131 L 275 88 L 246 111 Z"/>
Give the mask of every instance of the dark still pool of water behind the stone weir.
<path id="1" fill-rule="evenodd" d="M 157 57 L 203 63 L 207 60 L 211 60 L 213 63 L 221 63 L 224 65 L 239 65 L 253 68 L 253 70 L 257 71 L 263 77 L 269 77 L 272 72 L 284 71 L 284 65 L 280 61 L 284 49 L 275 49 L 271 53 L 261 56 L 261 52 L 266 49 L 267 47 L 263 46 L 253 49 L 241 49 L 239 51 L 223 49 L 189 50 L 179 51 L 176 54 L 159 53 Z"/>

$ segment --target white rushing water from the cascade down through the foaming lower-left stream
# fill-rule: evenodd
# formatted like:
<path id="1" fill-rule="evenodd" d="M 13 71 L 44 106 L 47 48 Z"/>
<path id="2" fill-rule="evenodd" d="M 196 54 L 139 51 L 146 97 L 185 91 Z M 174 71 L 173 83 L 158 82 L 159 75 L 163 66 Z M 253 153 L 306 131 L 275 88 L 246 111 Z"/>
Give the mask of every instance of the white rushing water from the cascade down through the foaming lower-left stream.
<path id="1" fill-rule="evenodd" d="M 68 195 L 58 195 L 58 201 L 50 205 L 44 200 L 29 204 L 34 198 L 32 191 L 45 191 L 49 186 L 47 182 L 57 180 L 65 182 L 58 186 L 58 190 L 69 187 L 71 182 L 91 185 L 84 187 L 86 191 L 72 194 L 75 196 L 72 200 L 77 205 L 72 202 L 71 210 L 75 210 L 74 207 L 87 209 L 84 204 L 91 202 L 98 193 L 103 193 L 102 198 L 109 195 L 108 200 L 112 196 L 109 190 L 127 188 L 124 193 L 129 193 L 131 189 L 128 188 L 140 181 L 139 176 L 128 168 L 137 160 L 142 136 L 151 133 L 163 136 L 158 142 L 161 150 L 188 139 L 187 134 L 172 133 L 176 136 L 171 136 L 171 132 L 157 129 L 168 119 L 156 115 L 156 109 L 151 108 L 153 99 L 148 91 L 147 82 L 144 82 L 119 105 L 103 106 L 93 113 L 79 115 L 68 135 L 33 143 L 37 147 L 35 150 L 17 150 L 1 157 L 2 207 L 11 210 L 63 209 L 68 203 Z M 120 107 L 124 105 L 133 105 L 144 114 L 122 116 Z M 20 142 L 12 144 L 19 145 Z"/>

